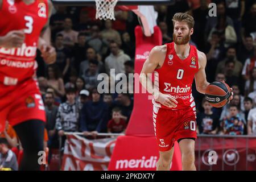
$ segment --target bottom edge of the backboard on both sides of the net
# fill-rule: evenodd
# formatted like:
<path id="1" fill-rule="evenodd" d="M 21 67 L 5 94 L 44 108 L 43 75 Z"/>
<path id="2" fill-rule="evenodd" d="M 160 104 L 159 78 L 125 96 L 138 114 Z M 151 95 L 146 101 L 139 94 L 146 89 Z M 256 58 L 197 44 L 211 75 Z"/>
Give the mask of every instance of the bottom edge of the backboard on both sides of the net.
<path id="1" fill-rule="evenodd" d="M 107 1 L 107 0 L 106 0 Z M 171 4 L 175 0 L 119 0 L 117 5 L 161 5 Z M 95 5 L 94 0 L 52 0 L 53 3 L 63 5 Z"/>

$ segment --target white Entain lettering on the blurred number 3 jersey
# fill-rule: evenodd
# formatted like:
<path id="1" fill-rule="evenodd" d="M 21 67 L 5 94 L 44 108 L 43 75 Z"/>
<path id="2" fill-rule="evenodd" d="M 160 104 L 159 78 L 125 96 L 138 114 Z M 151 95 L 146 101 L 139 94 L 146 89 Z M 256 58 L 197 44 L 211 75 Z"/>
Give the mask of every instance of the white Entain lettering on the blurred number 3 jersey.
<path id="1" fill-rule="evenodd" d="M 36 43 L 33 46 L 27 46 L 26 43 L 23 43 L 19 48 L 1 48 L 0 53 L 9 55 L 9 56 L 26 56 L 26 57 L 34 57 L 36 56 Z"/>

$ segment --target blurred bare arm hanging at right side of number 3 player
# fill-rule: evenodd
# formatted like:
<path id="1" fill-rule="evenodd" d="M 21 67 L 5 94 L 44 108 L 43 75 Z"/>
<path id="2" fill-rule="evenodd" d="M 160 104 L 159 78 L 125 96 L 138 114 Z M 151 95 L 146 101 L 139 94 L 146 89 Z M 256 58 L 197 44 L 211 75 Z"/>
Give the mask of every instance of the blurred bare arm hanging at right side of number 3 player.
<path id="1" fill-rule="evenodd" d="M 40 38 L 38 40 L 38 48 L 42 53 L 42 57 L 47 64 L 52 64 L 56 61 L 56 51 L 53 46 L 51 46 L 51 30 L 49 28 L 49 19 L 52 13 L 52 2 L 48 0 L 48 20 L 46 25 L 41 31 Z"/>

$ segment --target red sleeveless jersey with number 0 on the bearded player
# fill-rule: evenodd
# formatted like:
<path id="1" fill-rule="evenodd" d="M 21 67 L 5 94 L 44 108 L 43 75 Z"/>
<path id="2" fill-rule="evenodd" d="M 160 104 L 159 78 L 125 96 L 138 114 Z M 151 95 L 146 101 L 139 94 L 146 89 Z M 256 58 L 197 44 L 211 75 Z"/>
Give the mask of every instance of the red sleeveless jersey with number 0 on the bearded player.
<path id="1" fill-rule="evenodd" d="M 195 110 L 192 96 L 192 82 L 195 73 L 199 71 L 197 49 L 190 45 L 189 55 L 181 60 L 175 52 L 174 42 L 167 43 L 166 59 L 161 68 L 155 69 L 155 88 L 163 94 L 174 96 L 177 107 L 170 108 L 152 100 L 154 106 L 166 109 L 184 109 L 191 106 Z"/>

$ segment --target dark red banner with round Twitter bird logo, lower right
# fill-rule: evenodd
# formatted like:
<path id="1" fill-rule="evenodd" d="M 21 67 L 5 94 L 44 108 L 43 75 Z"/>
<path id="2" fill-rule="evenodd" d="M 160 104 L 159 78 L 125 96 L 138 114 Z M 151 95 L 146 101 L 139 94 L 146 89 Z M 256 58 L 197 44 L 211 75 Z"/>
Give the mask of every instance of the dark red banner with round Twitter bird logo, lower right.
<path id="1" fill-rule="evenodd" d="M 198 137 L 195 146 L 197 170 L 256 170 L 256 138 Z"/>

